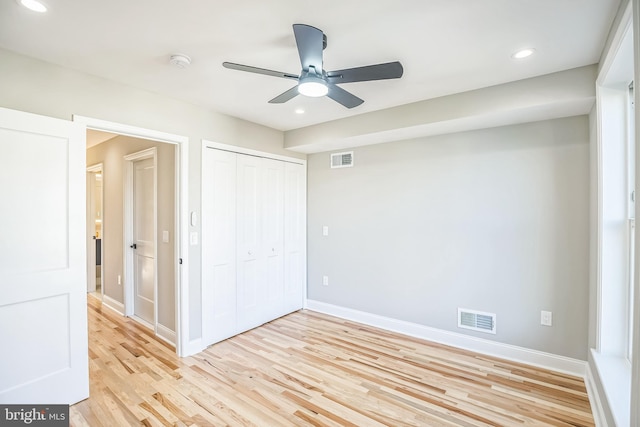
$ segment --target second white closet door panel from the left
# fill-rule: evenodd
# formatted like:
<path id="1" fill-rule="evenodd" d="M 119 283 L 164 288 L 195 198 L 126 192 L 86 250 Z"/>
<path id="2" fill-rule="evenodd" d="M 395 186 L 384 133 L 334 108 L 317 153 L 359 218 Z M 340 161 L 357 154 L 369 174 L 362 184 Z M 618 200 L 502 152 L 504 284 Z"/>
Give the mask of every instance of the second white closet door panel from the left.
<path id="1" fill-rule="evenodd" d="M 261 158 L 238 154 L 237 167 L 237 319 L 240 332 L 263 323 L 266 289 Z"/>

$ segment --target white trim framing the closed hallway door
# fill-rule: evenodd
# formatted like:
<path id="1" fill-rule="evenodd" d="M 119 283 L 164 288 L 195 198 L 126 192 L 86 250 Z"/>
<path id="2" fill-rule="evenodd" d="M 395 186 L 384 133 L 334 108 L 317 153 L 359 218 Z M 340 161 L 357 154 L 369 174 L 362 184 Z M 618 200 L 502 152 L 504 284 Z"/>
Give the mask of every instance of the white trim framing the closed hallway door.
<path id="1" fill-rule="evenodd" d="M 156 147 L 147 148 L 146 150 L 124 156 L 126 162 L 124 168 L 124 236 L 123 250 L 124 254 L 124 314 L 125 316 L 134 317 L 136 320 L 142 319 L 135 316 L 135 278 L 134 278 L 134 253 L 129 247 L 133 242 L 133 176 L 135 162 L 139 160 L 153 159 L 153 324 L 149 325 L 147 321 L 142 321 L 144 325 L 152 326 L 153 332 L 158 333 L 158 154 Z"/>

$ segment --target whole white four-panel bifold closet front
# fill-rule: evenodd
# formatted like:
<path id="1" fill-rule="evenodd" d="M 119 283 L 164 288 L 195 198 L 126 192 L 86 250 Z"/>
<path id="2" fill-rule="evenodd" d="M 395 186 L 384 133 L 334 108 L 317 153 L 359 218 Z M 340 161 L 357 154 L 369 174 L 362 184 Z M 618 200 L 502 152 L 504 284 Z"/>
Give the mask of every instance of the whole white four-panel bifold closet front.
<path id="1" fill-rule="evenodd" d="M 205 345 L 302 308 L 306 287 L 305 206 L 303 161 L 204 145 Z"/>

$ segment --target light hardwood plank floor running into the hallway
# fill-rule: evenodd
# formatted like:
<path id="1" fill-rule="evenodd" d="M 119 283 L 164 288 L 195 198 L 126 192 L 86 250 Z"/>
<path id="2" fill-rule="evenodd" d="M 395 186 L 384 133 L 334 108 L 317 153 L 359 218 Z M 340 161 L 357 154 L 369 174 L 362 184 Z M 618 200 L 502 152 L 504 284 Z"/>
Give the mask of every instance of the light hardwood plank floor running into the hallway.
<path id="1" fill-rule="evenodd" d="M 582 379 L 300 311 L 180 359 L 89 298 L 73 426 L 593 426 Z"/>

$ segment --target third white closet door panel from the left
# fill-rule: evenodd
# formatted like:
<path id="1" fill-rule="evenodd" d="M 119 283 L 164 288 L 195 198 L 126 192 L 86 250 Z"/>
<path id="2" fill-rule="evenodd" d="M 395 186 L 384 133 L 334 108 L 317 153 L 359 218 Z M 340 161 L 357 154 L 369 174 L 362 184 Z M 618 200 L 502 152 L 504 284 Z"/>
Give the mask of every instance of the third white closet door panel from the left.
<path id="1" fill-rule="evenodd" d="M 266 263 L 265 321 L 284 307 L 284 162 L 263 159 L 263 226 Z"/>

